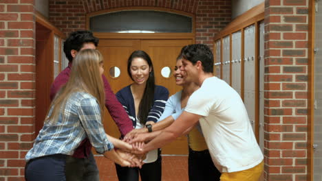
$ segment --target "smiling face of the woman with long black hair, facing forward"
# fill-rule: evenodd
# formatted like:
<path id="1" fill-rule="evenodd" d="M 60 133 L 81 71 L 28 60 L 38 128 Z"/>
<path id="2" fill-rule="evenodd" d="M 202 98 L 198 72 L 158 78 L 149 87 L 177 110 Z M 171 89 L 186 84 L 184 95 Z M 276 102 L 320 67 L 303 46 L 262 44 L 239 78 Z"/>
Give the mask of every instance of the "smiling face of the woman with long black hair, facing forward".
<path id="1" fill-rule="evenodd" d="M 149 64 L 143 58 L 133 58 L 131 62 L 131 77 L 136 84 L 145 84 L 151 71 Z"/>

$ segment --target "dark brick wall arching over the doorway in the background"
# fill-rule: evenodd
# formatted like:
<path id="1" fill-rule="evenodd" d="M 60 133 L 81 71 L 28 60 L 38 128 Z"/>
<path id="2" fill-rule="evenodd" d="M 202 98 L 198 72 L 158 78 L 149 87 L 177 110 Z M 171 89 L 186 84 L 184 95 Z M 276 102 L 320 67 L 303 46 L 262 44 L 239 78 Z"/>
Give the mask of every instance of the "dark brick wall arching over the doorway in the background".
<path id="1" fill-rule="evenodd" d="M 196 43 L 213 48 L 213 37 L 230 22 L 230 0 L 50 0 L 50 21 L 65 34 L 85 29 L 86 13 L 129 6 L 151 6 L 195 14 Z"/>

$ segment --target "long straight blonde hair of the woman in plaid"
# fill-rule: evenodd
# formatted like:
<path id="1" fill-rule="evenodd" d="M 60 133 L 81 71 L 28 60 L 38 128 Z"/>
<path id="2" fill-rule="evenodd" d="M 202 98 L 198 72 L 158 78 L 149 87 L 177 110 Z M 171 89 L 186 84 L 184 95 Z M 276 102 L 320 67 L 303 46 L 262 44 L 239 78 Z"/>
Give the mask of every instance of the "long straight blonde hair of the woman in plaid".
<path id="1" fill-rule="evenodd" d="M 102 75 L 100 75 L 100 64 L 103 64 L 103 56 L 96 49 L 84 49 L 77 53 L 73 60 L 69 80 L 52 101 L 50 105 L 51 114 L 50 111 L 47 112 L 45 121 L 55 123 L 58 120 L 61 108 L 65 110 L 67 99 L 72 93 L 76 92 L 85 92 L 96 97 L 103 119 L 105 91 Z"/>

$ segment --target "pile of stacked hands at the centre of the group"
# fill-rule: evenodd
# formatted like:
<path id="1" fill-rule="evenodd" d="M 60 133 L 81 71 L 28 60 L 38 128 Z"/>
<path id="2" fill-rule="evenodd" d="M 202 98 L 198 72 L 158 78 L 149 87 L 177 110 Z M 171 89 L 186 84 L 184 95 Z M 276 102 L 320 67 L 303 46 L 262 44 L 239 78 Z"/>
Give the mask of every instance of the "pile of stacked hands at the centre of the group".
<path id="1" fill-rule="evenodd" d="M 147 123 L 153 124 L 152 121 Z M 111 142 L 114 143 L 114 150 L 105 152 L 104 155 L 107 158 L 114 160 L 114 162 L 122 167 L 142 167 L 144 164 L 143 160 L 147 154 L 147 151 L 144 151 L 144 145 L 152 139 L 146 128 L 131 130 L 122 141 L 111 136 L 108 136 L 108 138 L 112 139 Z"/>

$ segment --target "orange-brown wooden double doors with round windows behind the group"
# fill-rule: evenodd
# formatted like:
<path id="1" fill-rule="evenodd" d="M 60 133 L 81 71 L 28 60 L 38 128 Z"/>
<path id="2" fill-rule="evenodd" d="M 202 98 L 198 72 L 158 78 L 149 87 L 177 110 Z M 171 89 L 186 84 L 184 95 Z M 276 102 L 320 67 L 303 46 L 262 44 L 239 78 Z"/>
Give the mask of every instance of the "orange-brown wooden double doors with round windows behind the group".
<path id="1" fill-rule="evenodd" d="M 170 95 L 181 90 L 175 85 L 172 75 L 175 67 L 175 59 L 184 45 L 193 43 L 193 40 L 113 40 L 100 39 L 98 50 L 104 56 L 105 76 L 116 93 L 121 88 L 131 84 L 131 78 L 127 75 L 127 58 L 134 50 L 146 51 L 153 62 L 155 82 L 168 88 Z M 120 69 L 119 77 L 112 77 L 109 73 L 111 67 Z M 170 77 L 163 77 L 161 71 L 164 67 L 171 69 Z M 112 69 L 113 71 L 113 69 Z M 120 136 L 114 121 L 105 110 L 105 130 L 111 136 Z M 186 136 L 177 138 L 173 143 L 162 148 L 162 154 L 188 154 Z"/>

